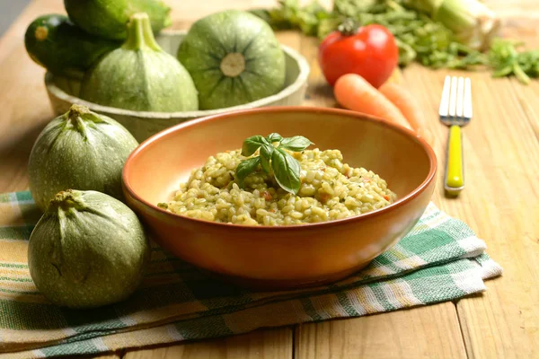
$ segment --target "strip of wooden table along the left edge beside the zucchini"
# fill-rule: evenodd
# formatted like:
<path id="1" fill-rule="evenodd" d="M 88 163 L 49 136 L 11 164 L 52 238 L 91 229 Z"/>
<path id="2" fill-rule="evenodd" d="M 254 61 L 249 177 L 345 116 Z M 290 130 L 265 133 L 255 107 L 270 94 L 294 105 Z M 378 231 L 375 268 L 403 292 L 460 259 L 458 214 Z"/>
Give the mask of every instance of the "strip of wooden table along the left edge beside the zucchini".
<path id="1" fill-rule="evenodd" d="M 31 61 L 22 42 L 39 13 L 61 11 L 61 3 L 31 3 L 0 39 L 0 191 L 28 187 L 26 164 L 35 139 L 52 118 L 44 70 Z"/>

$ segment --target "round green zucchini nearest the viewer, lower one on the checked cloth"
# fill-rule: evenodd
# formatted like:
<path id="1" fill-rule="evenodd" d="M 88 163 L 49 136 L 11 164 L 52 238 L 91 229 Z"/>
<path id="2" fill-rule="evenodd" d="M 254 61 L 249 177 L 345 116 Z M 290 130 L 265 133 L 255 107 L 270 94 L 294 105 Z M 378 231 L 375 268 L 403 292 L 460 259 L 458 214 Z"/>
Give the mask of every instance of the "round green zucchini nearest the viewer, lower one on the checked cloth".
<path id="1" fill-rule="evenodd" d="M 76 309 L 128 298 L 142 281 L 150 256 L 137 215 L 93 190 L 57 193 L 28 242 L 36 287 L 50 302 Z"/>

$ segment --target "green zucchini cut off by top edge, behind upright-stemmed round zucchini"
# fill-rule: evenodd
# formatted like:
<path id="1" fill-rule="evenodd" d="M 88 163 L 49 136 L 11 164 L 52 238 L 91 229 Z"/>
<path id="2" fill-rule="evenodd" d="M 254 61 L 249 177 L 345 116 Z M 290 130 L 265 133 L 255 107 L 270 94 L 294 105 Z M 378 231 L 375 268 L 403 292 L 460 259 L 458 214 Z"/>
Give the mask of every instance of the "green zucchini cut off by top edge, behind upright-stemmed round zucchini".
<path id="1" fill-rule="evenodd" d="M 126 39 L 126 26 L 134 13 L 147 13 L 152 31 L 172 24 L 171 8 L 160 0 L 64 0 L 72 22 L 105 39 Z"/>

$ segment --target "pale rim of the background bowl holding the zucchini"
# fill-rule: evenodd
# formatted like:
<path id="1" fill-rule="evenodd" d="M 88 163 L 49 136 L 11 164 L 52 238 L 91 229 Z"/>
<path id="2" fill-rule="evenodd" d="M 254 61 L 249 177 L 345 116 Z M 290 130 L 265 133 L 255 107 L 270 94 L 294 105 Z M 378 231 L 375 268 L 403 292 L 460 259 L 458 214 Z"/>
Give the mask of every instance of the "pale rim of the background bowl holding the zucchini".
<path id="1" fill-rule="evenodd" d="M 187 34 L 187 30 L 163 30 L 159 33 L 159 36 L 173 37 L 178 35 Z M 132 109 L 119 109 L 110 106 L 102 106 L 94 102 L 85 101 L 79 97 L 68 94 L 67 92 L 60 89 L 57 84 L 54 82 L 55 75 L 49 71 L 45 74 L 45 87 L 47 91 L 50 92 L 53 96 L 61 101 L 66 101 L 69 103 L 75 103 L 78 105 L 84 105 L 89 109 L 92 109 L 95 112 L 106 113 L 110 117 L 114 116 L 128 116 L 131 118 L 140 118 L 140 119 L 152 119 L 152 118 L 200 118 L 207 117 L 212 115 L 223 114 L 229 111 L 240 110 L 240 109 L 253 109 L 260 108 L 265 105 L 270 104 L 273 101 L 278 101 L 287 98 L 292 93 L 297 92 L 302 86 L 306 85 L 307 78 L 311 71 L 311 68 L 304 56 L 297 52 L 293 48 L 289 48 L 286 45 L 280 44 L 283 51 L 288 57 L 291 57 L 296 61 L 297 66 L 299 67 L 299 74 L 293 83 L 287 85 L 281 91 L 260 100 L 244 103 L 243 105 L 237 105 L 233 107 L 227 107 L 223 109 L 199 109 L 196 111 L 177 111 L 177 112 L 155 112 L 155 111 L 135 111 Z"/>

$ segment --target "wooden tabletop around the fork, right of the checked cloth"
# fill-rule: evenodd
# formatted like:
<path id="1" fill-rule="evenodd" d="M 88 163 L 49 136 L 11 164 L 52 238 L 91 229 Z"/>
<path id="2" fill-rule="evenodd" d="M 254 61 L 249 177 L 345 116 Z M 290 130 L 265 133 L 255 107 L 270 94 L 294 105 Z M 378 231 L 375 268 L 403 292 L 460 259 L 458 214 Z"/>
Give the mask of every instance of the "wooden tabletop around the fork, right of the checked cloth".
<path id="1" fill-rule="evenodd" d="M 415 83 L 412 91 L 434 116 L 439 93 L 434 89 L 441 87 L 445 72 L 426 74 L 418 67 L 404 72 L 404 78 Z M 468 75 L 475 112 L 463 131 L 466 188 L 458 199 L 447 199 L 440 177 L 433 199 L 486 241 L 487 252 L 504 268 L 504 276 L 487 282 L 487 293 L 457 303 L 464 342 L 469 357 L 536 357 L 539 144 L 537 117 L 528 115 L 539 113 L 530 102 L 539 85 L 524 88 L 514 80 Z M 530 98 L 519 100 L 520 92 Z M 446 136 L 446 127 L 431 129 L 439 139 Z M 444 140 L 436 148 L 440 165 L 445 162 L 442 144 Z"/>

